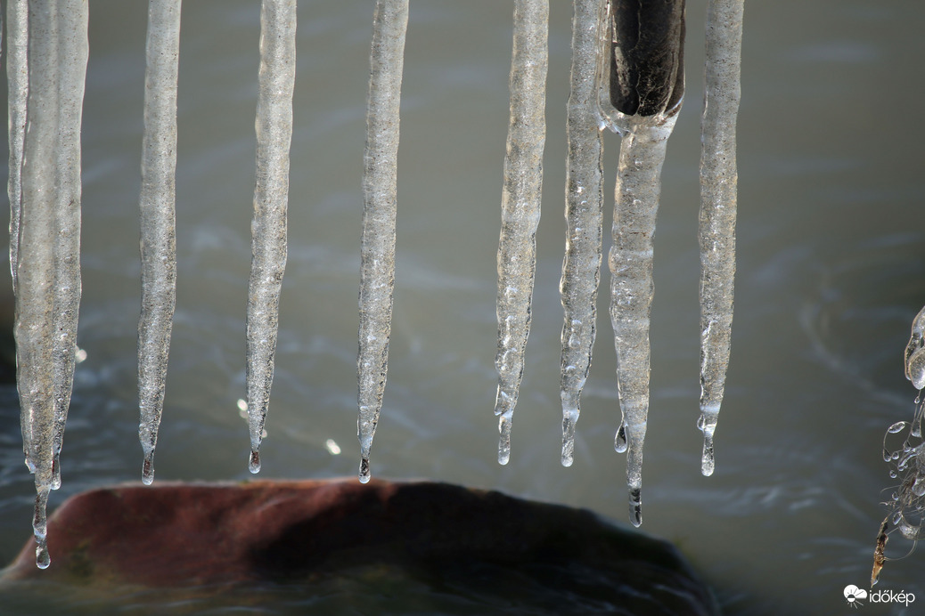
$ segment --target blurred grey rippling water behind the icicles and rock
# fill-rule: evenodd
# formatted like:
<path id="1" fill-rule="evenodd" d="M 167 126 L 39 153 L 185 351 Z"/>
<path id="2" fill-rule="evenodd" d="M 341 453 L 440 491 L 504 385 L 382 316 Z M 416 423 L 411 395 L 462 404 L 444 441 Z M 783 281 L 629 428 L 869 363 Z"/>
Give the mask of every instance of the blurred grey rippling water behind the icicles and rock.
<path id="1" fill-rule="evenodd" d="M 626 524 L 624 459 L 612 448 L 620 412 L 606 293 L 574 465 L 560 465 L 571 3 L 551 4 L 534 325 L 512 460 L 503 467 L 495 462 L 492 414 L 495 253 L 512 3 L 412 5 L 395 320 L 373 473 L 501 489 Z M 701 477 L 696 230 L 704 5 L 688 3 L 687 96 L 662 176 L 642 530 L 676 542 L 727 614 L 849 613 L 843 589 L 868 587 L 885 515 L 880 501 L 891 491 L 882 435 L 911 418 L 915 397 L 902 356 L 925 303 L 925 129 L 918 121 L 925 5 L 747 3 L 732 365 L 716 473 Z M 145 14 L 141 0 L 91 0 L 79 334 L 87 360 L 77 370 L 64 485 L 53 507 L 141 473 L 135 338 Z M 299 15 L 290 258 L 261 450 L 265 478 L 353 475 L 359 451 L 356 297 L 372 6 L 303 2 Z M 258 16 L 256 0 L 183 7 L 179 287 L 157 480 L 250 477 L 247 425 L 236 403 L 244 395 Z M 605 148 L 610 201 L 619 140 L 610 136 Z M 34 492 L 15 393 L 7 387 L 0 396 L 0 561 L 9 562 L 31 535 Z M 342 453 L 330 453 L 328 440 Z M 894 536 L 888 551 L 908 547 Z M 919 599 L 907 610 L 862 610 L 918 613 L 923 580 L 925 554 L 888 562 L 877 588 Z M 356 597 L 361 589 L 339 590 Z M 51 592 L 26 588 L 18 600 Z M 291 593 L 261 589 L 236 600 L 259 601 L 265 613 L 310 603 Z M 157 600 L 114 605 L 138 613 L 138 601 Z M 355 610 L 376 612 L 375 595 L 356 600 L 362 606 Z M 198 609 L 208 610 L 208 602 Z M 68 613 L 68 603 L 57 610 Z M 406 610 L 420 611 L 419 604 L 409 598 Z"/>

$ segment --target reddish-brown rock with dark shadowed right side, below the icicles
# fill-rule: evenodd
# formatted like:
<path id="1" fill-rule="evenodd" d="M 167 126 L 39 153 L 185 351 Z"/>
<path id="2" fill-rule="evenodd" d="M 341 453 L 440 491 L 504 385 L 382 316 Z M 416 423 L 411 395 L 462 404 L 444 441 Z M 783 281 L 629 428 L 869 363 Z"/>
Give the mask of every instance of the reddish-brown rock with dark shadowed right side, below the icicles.
<path id="1" fill-rule="evenodd" d="M 51 567 L 35 567 L 30 539 L 5 586 L 230 588 L 239 599 L 249 585 L 320 598 L 408 586 L 453 597 L 451 613 L 718 613 L 665 541 L 586 510 L 441 483 L 123 485 L 65 501 L 48 537 Z"/>

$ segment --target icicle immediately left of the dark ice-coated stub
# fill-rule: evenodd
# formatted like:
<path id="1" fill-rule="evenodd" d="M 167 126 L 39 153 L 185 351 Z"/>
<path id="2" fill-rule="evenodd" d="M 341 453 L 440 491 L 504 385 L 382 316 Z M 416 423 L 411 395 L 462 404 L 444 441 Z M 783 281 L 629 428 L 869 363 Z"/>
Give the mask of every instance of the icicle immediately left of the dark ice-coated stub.
<path id="1" fill-rule="evenodd" d="M 562 326 L 562 465 L 571 466 L 580 397 L 591 368 L 597 332 L 603 224 L 603 142 L 598 129 L 595 70 L 599 0 L 574 0 L 572 88 L 568 103 L 565 170 L 565 260 L 559 290 Z"/>

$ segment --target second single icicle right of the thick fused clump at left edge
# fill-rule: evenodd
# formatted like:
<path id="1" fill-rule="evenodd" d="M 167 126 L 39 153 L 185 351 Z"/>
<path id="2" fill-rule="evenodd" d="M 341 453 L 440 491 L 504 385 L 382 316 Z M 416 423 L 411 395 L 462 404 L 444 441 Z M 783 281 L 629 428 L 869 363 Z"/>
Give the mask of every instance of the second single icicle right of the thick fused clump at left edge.
<path id="1" fill-rule="evenodd" d="M 247 296 L 247 413 L 251 431 L 248 467 L 252 473 L 260 470 L 260 441 L 277 349 L 279 291 L 286 269 L 296 0 L 264 0 L 260 24 L 257 181 Z"/>

